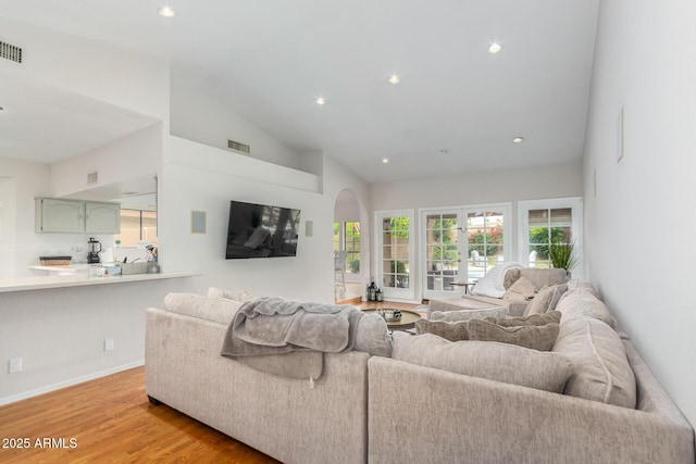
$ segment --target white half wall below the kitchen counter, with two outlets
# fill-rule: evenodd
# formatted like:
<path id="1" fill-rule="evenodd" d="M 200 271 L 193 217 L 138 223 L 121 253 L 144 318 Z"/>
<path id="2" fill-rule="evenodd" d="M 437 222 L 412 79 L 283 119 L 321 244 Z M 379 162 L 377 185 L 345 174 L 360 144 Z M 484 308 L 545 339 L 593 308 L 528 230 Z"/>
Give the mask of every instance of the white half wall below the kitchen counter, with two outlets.
<path id="1" fill-rule="evenodd" d="M 0 404 L 141 365 L 145 309 L 162 308 L 170 291 L 194 291 L 195 280 L 0 292 Z M 8 373 L 13 358 L 21 373 Z"/>

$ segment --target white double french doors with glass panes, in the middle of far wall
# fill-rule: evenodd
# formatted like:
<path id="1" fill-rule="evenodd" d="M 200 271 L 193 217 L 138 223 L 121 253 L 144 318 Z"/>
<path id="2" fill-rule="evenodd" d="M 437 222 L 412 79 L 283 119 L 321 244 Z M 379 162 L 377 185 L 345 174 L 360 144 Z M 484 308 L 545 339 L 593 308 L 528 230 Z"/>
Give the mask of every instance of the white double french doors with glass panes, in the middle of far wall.
<path id="1" fill-rule="evenodd" d="M 423 298 L 461 294 L 458 283 L 473 283 L 507 261 L 505 234 L 509 204 L 422 211 Z"/>

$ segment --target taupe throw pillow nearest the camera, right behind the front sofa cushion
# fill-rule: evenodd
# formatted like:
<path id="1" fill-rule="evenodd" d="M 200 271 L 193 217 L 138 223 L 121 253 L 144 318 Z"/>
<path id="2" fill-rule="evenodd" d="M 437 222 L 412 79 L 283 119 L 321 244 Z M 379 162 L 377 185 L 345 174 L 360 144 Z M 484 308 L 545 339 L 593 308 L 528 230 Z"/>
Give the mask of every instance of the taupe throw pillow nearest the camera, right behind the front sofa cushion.
<path id="1" fill-rule="evenodd" d="M 538 351 L 550 351 L 558 337 L 558 324 L 501 327 L 485 321 L 469 321 L 469 339 L 498 341 Z"/>

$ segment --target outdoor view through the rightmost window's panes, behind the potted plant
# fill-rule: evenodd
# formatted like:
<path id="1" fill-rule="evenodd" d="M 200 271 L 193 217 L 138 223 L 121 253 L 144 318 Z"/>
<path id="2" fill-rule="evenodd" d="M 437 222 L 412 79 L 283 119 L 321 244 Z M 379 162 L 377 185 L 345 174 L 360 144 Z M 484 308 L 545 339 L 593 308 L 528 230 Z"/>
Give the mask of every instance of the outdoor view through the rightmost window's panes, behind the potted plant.
<path id="1" fill-rule="evenodd" d="M 571 243 L 572 209 L 530 210 L 530 266 L 551 267 L 550 243 Z"/>

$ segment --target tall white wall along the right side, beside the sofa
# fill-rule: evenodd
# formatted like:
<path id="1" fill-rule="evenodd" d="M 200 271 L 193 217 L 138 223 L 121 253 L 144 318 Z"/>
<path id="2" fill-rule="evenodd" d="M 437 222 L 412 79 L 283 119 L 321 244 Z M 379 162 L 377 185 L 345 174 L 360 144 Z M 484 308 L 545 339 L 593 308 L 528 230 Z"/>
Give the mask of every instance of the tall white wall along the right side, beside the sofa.
<path id="1" fill-rule="evenodd" d="M 584 165 L 591 279 L 692 424 L 695 18 L 695 2 L 600 3 Z"/>

